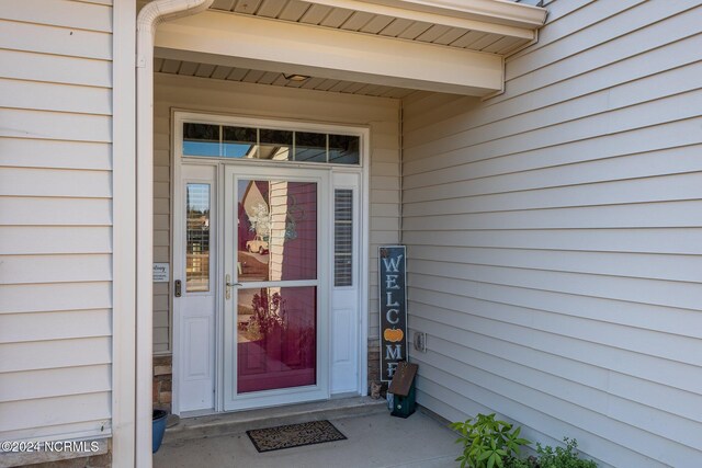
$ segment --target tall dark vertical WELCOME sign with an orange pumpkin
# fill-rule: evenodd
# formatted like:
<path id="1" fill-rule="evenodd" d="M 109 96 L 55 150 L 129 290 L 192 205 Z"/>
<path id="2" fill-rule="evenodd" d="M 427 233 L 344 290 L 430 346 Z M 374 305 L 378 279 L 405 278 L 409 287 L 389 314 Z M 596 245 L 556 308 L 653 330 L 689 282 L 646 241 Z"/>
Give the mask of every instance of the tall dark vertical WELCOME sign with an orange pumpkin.
<path id="1" fill-rule="evenodd" d="M 393 379 L 397 363 L 407 361 L 407 252 L 405 246 L 378 252 L 381 312 L 381 380 Z"/>

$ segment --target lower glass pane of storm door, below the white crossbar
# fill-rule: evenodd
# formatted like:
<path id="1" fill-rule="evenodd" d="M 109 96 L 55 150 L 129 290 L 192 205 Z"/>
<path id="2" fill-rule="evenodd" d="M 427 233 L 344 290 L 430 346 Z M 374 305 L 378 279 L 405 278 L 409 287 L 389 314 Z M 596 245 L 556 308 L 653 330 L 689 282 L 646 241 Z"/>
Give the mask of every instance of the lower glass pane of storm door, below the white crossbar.
<path id="1" fill-rule="evenodd" d="M 238 290 L 237 393 L 316 384 L 317 288 Z"/>

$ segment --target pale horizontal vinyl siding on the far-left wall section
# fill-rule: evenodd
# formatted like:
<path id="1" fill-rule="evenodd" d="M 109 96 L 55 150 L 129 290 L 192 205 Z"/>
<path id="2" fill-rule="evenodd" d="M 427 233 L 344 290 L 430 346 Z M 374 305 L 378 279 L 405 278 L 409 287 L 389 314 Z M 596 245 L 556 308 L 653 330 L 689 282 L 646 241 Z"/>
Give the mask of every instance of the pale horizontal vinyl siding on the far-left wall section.
<path id="1" fill-rule="evenodd" d="M 0 440 L 109 435 L 112 7 L 0 9 Z"/>

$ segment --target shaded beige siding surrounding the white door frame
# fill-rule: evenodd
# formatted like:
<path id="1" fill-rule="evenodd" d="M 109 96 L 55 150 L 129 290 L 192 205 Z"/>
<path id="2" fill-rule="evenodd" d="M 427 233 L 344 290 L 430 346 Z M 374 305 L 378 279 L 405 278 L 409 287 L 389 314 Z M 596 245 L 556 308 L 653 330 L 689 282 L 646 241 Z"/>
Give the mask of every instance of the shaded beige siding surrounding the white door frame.
<path id="1" fill-rule="evenodd" d="M 399 101 L 160 73 L 155 93 L 155 262 L 171 260 L 172 109 L 370 127 L 369 339 L 377 342 L 377 248 L 399 241 Z M 154 286 L 154 351 L 170 352 L 169 285 Z"/>

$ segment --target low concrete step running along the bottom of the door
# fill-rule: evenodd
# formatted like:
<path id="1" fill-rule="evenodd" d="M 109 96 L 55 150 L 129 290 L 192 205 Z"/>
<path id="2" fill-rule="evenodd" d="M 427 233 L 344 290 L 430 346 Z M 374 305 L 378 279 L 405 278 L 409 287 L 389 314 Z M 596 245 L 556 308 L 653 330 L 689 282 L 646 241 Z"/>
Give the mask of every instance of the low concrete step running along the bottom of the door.
<path id="1" fill-rule="evenodd" d="M 166 431 L 163 443 L 170 444 L 193 438 L 239 434 L 274 425 L 327 419 L 336 420 L 385 411 L 387 411 L 387 403 L 384 399 L 374 400 L 371 397 L 351 397 L 194 418 L 186 418 L 181 414 L 178 425 Z"/>

